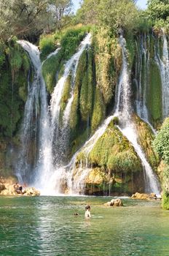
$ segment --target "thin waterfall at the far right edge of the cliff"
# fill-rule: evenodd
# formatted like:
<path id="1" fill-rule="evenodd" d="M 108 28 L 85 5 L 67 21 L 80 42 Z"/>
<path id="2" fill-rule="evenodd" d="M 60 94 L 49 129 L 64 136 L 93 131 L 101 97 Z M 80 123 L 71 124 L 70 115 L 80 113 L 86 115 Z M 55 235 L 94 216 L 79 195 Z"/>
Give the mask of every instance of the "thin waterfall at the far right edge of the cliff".
<path id="1" fill-rule="evenodd" d="M 160 68 L 160 75 L 162 80 L 162 117 L 163 119 L 169 116 L 169 46 L 167 36 L 162 30 L 163 50 L 162 58 L 160 58 L 160 49 L 157 47 L 156 61 Z"/>

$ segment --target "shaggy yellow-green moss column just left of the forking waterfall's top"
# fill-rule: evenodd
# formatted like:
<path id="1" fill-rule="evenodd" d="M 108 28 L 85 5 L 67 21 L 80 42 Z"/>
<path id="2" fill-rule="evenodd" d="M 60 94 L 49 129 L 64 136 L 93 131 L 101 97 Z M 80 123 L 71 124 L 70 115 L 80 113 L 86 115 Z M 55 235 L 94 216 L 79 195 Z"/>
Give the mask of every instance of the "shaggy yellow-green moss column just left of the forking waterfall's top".
<path id="1" fill-rule="evenodd" d="M 105 105 L 108 105 L 114 97 L 115 86 L 122 64 L 122 51 L 118 40 L 110 36 L 109 31 L 106 31 L 106 29 L 99 29 L 94 35 L 93 47 L 95 49 L 97 84 L 103 95 Z"/>

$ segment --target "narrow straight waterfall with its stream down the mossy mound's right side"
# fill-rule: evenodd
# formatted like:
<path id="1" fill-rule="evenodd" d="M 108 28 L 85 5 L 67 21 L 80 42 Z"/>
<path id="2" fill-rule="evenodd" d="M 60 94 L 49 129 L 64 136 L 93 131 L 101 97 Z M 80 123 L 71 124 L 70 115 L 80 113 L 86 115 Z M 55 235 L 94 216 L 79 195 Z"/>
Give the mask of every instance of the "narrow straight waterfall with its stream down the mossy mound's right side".
<path id="1" fill-rule="evenodd" d="M 119 39 L 119 44 L 122 47 L 122 72 L 119 78 L 119 88 L 117 94 L 117 110 L 116 113 L 119 115 L 119 129 L 123 135 L 130 141 L 130 143 L 135 148 L 135 152 L 141 159 L 141 163 L 144 167 L 146 174 L 146 192 L 154 192 L 160 195 L 160 185 L 157 181 L 156 176 L 153 173 L 152 167 L 146 160 L 144 151 L 142 151 L 141 146 L 138 145 L 137 135 L 135 131 L 134 124 L 131 118 L 131 105 L 130 105 L 130 78 L 127 70 L 127 55 L 125 48 L 125 39 L 121 36 Z"/>

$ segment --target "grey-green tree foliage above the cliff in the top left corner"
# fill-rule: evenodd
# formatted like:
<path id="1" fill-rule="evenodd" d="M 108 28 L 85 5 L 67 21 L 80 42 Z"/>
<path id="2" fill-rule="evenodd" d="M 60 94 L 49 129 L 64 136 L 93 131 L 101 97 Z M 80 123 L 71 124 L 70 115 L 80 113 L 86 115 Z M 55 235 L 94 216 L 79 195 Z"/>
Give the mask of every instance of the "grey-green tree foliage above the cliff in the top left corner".
<path id="1" fill-rule="evenodd" d="M 0 38 L 60 29 L 71 8 L 71 0 L 1 0 Z"/>

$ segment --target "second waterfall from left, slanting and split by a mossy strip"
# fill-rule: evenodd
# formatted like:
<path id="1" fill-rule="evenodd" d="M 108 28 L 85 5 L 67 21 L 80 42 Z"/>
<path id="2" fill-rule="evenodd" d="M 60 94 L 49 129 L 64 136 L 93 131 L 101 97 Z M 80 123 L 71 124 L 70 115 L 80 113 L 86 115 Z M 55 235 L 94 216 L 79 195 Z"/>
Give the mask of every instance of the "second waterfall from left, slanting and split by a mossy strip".
<path id="1" fill-rule="evenodd" d="M 60 167 L 66 162 L 66 148 L 68 143 L 68 121 L 71 113 L 71 104 L 74 100 L 74 84 L 76 79 L 76 69 L 79 63 L 80 56 L 85 48 L 90 45 L 91 34 L 87 34 L 79 46 L 79 50 L 66 62 L 62 78 L 58 80 L 55 89 L 52 93 L 50 103 L 50 113 L 52 118 L 52 147 L 54 148 L 54 165 Z M 63 121 L 60 126 L 60 100 L 63 94 L 64 85 L 68 75 L 71 73 L 71 96 L 68 99 L 66 109 L 63 113 Z"/>

